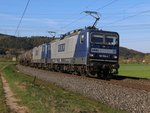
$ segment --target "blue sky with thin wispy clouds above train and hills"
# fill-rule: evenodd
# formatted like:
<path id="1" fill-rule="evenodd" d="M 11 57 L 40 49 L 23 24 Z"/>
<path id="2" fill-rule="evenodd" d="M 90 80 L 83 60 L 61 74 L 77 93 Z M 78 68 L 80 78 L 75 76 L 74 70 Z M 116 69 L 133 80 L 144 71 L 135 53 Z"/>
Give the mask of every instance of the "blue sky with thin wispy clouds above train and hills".
<path id="1" fill-rule="evenodd" d="M 120 46 L 150 53 L 150 0 L 0 0 L 0 33 L 50 36 L 84 28 L 95 19 L 84 11 L 97 11 L 97 28 L 115 31 Z"/>

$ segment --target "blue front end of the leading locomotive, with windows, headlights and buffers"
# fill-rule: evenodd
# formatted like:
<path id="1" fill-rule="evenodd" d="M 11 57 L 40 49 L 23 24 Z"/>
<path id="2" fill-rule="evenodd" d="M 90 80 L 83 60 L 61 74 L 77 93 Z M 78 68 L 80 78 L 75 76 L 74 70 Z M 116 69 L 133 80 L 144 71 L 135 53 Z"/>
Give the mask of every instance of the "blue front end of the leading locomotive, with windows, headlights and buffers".
<path id="1" fill-rule="evenodd" d="M 118 33 L 89 30 L 88 40 L 87 72 L 103 78 L 117 74 L 119 68 Z"/>

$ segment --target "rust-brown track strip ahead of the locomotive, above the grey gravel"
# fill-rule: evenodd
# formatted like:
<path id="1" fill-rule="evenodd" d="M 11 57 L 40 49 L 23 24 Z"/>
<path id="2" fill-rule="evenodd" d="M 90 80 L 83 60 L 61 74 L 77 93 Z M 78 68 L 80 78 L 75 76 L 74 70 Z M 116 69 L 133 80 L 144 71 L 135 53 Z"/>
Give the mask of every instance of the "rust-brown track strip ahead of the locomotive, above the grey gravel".
<path id="1" fill-rule="evenodd" d="M 117 85 L 121 87 L 150 92 L 150 79 L 144 79 L 138 77 L 127 77 L 122 75 L 116 75 L 109 80 L 104 80 L 96 77 L 85 77 L 85 76 L 79 76 L 79 77 L 96 83 L 106 83 L 106 84 Z"/>

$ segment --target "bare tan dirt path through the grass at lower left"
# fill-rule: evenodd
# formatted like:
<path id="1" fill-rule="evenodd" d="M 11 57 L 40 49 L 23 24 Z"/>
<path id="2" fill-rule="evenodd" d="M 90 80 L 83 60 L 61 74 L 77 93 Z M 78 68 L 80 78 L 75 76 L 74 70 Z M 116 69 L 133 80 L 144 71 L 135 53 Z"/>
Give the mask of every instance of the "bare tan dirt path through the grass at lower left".
<path id="1" fill-rule="evenodd" d="M 29 113 L 29 109 L 25 106 L 19 106 L 18 101 L 15 97 L 13 92 L 10 90 L 10 87 L 8 85 L 8 82 L 5 80 L 3 76 L 1 76 L 2 83 L 3 83 L 3 88 L 5 92 L 5 97 L 6 97 L 6 104 L 8 107 L 12 110 L 12 112 L 15 113 Z"/>

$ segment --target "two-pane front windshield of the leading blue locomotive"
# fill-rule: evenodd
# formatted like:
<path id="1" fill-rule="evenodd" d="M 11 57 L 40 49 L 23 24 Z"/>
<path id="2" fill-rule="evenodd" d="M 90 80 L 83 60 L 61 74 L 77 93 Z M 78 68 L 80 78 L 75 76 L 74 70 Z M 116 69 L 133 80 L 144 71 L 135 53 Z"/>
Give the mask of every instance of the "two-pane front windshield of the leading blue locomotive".
<path id="1" fill-rule="evenodd" d="M 118 44 L 118 36 L 117 35 L 93 34 L 91 37 L 91 43 L 117 45 Z"/>

